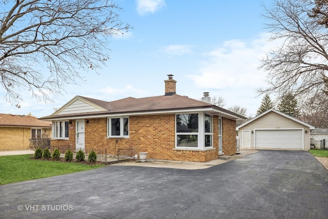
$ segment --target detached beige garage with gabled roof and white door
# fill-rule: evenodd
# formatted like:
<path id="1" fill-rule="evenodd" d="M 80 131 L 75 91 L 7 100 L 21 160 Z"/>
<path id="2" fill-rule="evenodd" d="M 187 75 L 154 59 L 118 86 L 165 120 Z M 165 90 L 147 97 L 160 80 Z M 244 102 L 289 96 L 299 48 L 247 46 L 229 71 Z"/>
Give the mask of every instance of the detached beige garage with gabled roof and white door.
<path id="1" fill-rule="evenodd" d="M 274 109 L 236 128 L 241 148 L 310 150 L 314 126 Z"/>

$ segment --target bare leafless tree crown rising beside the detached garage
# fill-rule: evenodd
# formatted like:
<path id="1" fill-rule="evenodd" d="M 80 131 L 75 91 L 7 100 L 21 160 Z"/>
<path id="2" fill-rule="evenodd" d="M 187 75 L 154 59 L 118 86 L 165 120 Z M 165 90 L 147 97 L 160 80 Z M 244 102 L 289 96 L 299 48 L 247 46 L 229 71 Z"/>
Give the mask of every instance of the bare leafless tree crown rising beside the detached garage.
<path id="1" fill-rule="evenodd" d="M 260 69 L 268 72 L 268 88 L 259 93 L 285 93 L 306 96 L 323 89 L 328 70 L 328 29 L 313 15 L 316 0 L 275 0 L 265 7 L 271 40 L 283 39 L 261 60 Z"/>

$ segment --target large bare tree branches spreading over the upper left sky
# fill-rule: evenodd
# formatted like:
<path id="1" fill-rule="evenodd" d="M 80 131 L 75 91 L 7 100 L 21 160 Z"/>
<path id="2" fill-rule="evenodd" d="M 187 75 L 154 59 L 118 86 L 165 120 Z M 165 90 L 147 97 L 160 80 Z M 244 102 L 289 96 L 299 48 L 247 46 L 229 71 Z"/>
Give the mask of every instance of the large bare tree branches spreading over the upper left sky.
<path id="1" fill-rule="evenodd" d="M 2 1 L 0 83 L 6 101 L 18 102 L 28 90 L 49 102 L 49 94 L 83 79 L 81 71 L 105 64 L 110 36 L 130 27 L 120 21 L 119 10 L 108 0 Z"/>

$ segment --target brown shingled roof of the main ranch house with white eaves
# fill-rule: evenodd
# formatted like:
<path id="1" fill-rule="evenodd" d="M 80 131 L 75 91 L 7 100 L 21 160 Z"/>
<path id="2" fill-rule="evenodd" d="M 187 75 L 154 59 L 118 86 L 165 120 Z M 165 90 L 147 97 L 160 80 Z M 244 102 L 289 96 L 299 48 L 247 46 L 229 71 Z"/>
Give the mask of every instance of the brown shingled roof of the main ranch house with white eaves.
<path id="1" fill-rule="evenodd" d="M 76 100 L 83 101 L 89 105 L 94 106 L 97 110 L 94 112 L 84 113 L 69 113 L 60 114 L 61 111 L 69 107 Z M 203 101 L 197 101 L 196 99 L 189 98 L 187 96 L 181 96 L 178 94 L 152 96 L 144 98 L 127 97 L 118 99 L 117 101 L 100 101 L 99 99 L 93 99 L 84 96 L 75 96 L 70 102 L 58 109 L 50 116 L 40 118 L 41 120 L 52 120 L 58 118 L 74 118 L 74 116 L 110 116 L 118 114 L 151 114 L 162 113 L 168 111 L 181 111 L 181 110 L 208 110 L 213 113 L 217 113 L 221 116 L 230 117 L 236 120 L 245 120 L 246 117 L 238 115 L 229 110 L 215 106 Z"/>

